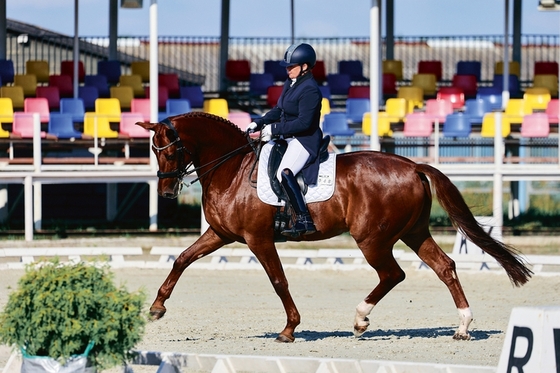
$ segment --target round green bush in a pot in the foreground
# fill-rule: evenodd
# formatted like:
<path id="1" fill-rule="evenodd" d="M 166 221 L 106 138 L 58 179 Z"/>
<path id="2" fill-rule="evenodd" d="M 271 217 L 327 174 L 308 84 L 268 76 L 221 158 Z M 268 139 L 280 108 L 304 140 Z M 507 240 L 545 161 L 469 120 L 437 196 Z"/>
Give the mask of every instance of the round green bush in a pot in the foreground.
<path id="1" fill-rule="evenodd" d="M 26 268 L 0 314 L 0 342 L 65 361 L 94 341 L 91 363 L 116 366 L 143 335 L 145 298 L 117 288 L 106 265 L 39 262 Z"/>

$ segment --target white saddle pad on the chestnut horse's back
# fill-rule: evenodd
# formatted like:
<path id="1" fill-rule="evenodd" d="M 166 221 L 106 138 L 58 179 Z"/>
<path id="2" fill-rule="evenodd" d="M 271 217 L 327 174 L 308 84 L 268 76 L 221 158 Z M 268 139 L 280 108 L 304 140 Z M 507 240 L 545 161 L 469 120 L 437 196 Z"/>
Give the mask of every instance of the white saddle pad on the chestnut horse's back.
<path id="1" fill-rule="evenodd" d="M 257 194 L 259 199 L 264 203 L 273 206 L 283 206 L 284 201 L 278 201 L 278 197 L 270 187 L 270 180 L 268 179 L 268 158 L 272 150 L 272 143 L 263 145 L 261 156 L 259 159 L 259 170 L 257 173 Z M 319 178 L 317 185 L 309 186 L 305 201 L 321 202 L 326 201 L 334 194 L 335 176 L 336 176 L 336 154 L 329 153 L 329 159 L 321 163 L 319 166 Z"/>

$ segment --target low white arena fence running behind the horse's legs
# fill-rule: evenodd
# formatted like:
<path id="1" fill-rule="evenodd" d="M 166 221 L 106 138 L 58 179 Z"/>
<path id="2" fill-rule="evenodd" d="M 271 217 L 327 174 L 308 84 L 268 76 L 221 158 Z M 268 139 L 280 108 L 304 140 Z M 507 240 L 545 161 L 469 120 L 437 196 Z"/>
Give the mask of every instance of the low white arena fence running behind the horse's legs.
<path id="1" fill-rule="evenodd" d="M 171 269 L 174 260 L 184 247 L 154 246 L 149 250 L 142 247 L 48 247 L 48 248 L 5 248 L 0 249 L 0 270 L 23 269 L 26 265 L 42 259 L 59 258 L 62 262 L 99 259 L 107 261 L 111 268 L 155 268 Z M 285 268 L 306 270 L 373 270 L 359 249 L 279 249 L 278 255 Z M 413 252 L 393 250 L 395 259 L 403 267 L 417 270 L 429 269 Z M 503 272 L 498 262 L 486 254 L 448 254 L 462 271 Z M 523 258 L 535 274 L 560 275 L 560 256 L 525 255 Z M 201 258 L 189 268 L 209 270 L 260 269 L 261 264 L 251 250 L 222 248 Z"/>

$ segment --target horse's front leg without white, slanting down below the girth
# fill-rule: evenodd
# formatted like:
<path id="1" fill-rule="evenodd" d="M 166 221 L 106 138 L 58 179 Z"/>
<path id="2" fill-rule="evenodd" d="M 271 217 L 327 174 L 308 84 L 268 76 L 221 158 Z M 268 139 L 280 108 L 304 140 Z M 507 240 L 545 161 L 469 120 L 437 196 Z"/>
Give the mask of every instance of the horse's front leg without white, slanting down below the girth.
<path id="1" fill-rule="evenodd" d="M 273 242 L 266 244 L 259 242 L 254 246 L 249 244 L 249 248 L 263 266 L 286 311 L 286 326 L 276 337 L 276 342 L 293 342 L 295 340 L 294 330 L 300 323 L 300 315 L 288 289 L 288 280 L 284 274 L 276 247 Z"/>

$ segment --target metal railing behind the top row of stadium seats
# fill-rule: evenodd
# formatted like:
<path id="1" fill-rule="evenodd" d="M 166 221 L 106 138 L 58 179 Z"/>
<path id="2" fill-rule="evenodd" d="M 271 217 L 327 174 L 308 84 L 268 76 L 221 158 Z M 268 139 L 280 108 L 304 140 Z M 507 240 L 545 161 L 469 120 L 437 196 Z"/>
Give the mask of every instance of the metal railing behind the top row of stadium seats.
<path id="1" fill-rule="evenodd" d="M 130 73 L 130 62 L 149 59 L 148 40 L 147 36 L 118 39 L 118 59 L 122 62 L 123 74 Z M 338 71 L 338 61 L 360 60 L 364 75 L 369 76 L 369 38 L 300 38 L 297 41 L 314 46 L 328 74 Z M 385 56 L 385 40 L 382 42 L 381 55 Z M 249 60 L 251 72 L 262 73 L 264 61 L 281 59 L 290 43 L 290 38 L 230 38 L 228 56 L 229 59 Z M 25 73 L 27 60 L 47 60 L 51 74 L 58 74 L 60 62 L 73 58 L 73 39 L 69 36 L 12 32 L 8 34 L 6 45 L 7 58 L 14 62 L 18 74 Z M 491 81 L 495 64 L 503 58 L 503 45 L 500 35 L 395 37 L 394 59 L 403 61 L 405 80 L 412 79 L 421 60 L 442 61 L 444 80 L 452 79 L 457 62 L 476 60 L 482 65 L 482 80 Z M 183 84 L 198 84 L 206 92 L 216 92 L 220 87 L 219 49 L 219 37 L 161 36 L 158 45 L 160 71 L 177 72 Z M 509 49 L 511 56 L 512 48 Z M 535 61 L 558 61 L 559 53 L 557 35 L 522 35 L 520 80 L 532 81 Z M 80 38 L 80 60 L 84 62 L 86 74 L 96 74 L 97 62 L 107 58 L 107 37 Z"/>

